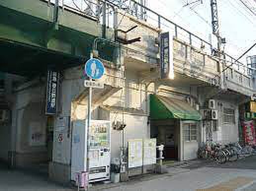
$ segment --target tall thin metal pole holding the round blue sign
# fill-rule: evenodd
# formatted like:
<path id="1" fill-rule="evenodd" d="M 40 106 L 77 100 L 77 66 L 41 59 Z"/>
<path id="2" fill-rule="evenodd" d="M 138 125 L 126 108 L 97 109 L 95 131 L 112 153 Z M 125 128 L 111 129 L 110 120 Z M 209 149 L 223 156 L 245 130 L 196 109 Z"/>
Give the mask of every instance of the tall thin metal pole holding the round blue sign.
<path id="1" fill-rule="evenodd" d="M 92 59 L 93 58 L 93 54 L 91 53 L 90 55 L 90 58 Z M 89 81 L 91 82 L 92 79 L 89 77 Z M 87 107 L 87 129 L 86 129 L 86 132 L 87 132 L 87 141 L 86 141 L 86 157 L 87 157 L 87 160 L 86 160 L 86 178 L 87 178 L 87 184 L 86 184 L 86 190 L 88 191 L 89 190 L 89 171 L 90 171 L 90 168 L 89 168 L 89 150 L 90 150 L 90 120 L 91 120 L 91 96 L 92 96 L 92 87 L 89 87 L 89 97 L 88 97 L 88 107 Z"/>

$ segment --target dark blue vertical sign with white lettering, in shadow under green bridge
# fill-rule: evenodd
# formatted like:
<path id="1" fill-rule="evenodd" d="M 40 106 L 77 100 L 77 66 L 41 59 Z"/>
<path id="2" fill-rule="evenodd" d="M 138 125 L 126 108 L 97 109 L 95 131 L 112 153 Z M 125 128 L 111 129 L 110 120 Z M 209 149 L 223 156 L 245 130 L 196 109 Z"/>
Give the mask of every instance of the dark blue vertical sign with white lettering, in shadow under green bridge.
<path id="1" fill-rule="evenodd" d="M 59 73 L 48 71 L 46 91 L 46 115 L 55 115 L 57 111 L 57 93 L 59 85 Z"/>

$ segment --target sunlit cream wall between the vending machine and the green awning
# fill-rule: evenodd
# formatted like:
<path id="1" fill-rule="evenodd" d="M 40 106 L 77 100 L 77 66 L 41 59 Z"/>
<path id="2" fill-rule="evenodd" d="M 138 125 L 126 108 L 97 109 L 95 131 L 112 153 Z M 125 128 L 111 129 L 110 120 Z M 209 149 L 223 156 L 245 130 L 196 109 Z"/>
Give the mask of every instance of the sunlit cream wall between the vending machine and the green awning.
<path id="1" fill-rule="evenodd" d="M 118 106 L 124 108 L 122 111 L 112 111 L 110 120 L 123 121 L 127 124 L 125 129 L 125 145 L 129 139 L 150 138 L 150 126 L 148 121 L 149 99 L 148 96 L 153 85 L 146 90 L 145 84 L 141 84 L 139 76 L 133 71 L 126 72 L 125 88 L 109 97 L 103 105 Z M 119 157 L 120 146 L 122 146 L 122 133 L 111 131 L 111 157 Z"/>

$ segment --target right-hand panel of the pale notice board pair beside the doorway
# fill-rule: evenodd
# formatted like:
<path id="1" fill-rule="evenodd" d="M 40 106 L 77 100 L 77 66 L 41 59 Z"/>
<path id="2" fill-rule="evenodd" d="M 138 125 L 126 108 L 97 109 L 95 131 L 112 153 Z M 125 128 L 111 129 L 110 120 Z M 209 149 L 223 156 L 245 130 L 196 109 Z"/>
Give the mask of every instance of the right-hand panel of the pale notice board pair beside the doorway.
<path id="1" fill-rule="evenodd" d="M 157 163 L 157 139 L 143 140 L 143 165 L 152 165 Z"/>

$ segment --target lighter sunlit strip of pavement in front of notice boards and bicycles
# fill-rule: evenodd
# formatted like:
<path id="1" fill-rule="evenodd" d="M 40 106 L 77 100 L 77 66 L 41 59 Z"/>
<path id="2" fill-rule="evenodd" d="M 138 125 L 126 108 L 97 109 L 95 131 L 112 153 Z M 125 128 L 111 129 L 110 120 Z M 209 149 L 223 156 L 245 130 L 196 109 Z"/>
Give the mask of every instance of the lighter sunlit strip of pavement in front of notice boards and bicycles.
<path id="1" fill-rule="evenodd" d="M 108 191 L 197 191 L 200 189 L 208 191 L 206 189 L 217 187 L 221 183 L 234 182 L 239 177 L 250 179 L 250 181 L 256 180 L 256 170 L 202 167 L 175 175 L 167 174 L 146 182 L 122 185 Z M 245 181 L 245 183 L 248 182 Z M 227 191 L 235 191 L 235 189 Z"/>

